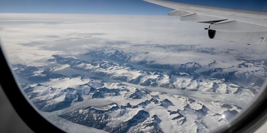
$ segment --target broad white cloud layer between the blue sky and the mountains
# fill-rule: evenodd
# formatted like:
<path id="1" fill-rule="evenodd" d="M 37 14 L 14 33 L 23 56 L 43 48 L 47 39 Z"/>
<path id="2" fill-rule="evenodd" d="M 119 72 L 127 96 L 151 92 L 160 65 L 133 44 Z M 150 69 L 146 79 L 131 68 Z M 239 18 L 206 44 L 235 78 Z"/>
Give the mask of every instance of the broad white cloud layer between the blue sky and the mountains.
<path id="1" fill-rule="evenodd" d="M 41 65 L 53 54 L 78 55 L 87 49 L 104 47 L 128 53 L 150 51 L 151 59 L 162 58 L 159 63 L 206 64 L 216 59 L 220 65 L 231 66 L 228 62 L 237 54 L 247 59 L 267 56 L 264 45 L 209 39 L 204 30 L 209 24 L 181 22 L 175 16 L 0 14 L 0 18 L 2 43 L 12 63 L 33 65 L 38 61 Z M 116 44 L 117 41 L 122 44 Z M 175 46 L 181 44 L 185 46 Z M 179 51 L 179 48 L 187 50 Z M 217 54 L 196 52 L 197 48 L 217 48 Z M 228 49 L 232 50 L 231 54 L 220 54 Z"/>

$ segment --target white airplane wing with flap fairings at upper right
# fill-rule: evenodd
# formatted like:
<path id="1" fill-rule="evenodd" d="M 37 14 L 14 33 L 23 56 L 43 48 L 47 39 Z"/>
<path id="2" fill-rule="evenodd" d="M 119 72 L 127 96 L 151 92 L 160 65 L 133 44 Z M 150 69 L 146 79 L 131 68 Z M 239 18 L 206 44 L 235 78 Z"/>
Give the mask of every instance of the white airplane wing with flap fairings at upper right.
<path id="1" fill-rule="evenodd" d="M 267 12 L 182 4 L 162 0 L 144 0 L 175 9 L 169 16 L 180 21 L 210 23 L 209 38 L 236 43 L 267 43 Z"/>

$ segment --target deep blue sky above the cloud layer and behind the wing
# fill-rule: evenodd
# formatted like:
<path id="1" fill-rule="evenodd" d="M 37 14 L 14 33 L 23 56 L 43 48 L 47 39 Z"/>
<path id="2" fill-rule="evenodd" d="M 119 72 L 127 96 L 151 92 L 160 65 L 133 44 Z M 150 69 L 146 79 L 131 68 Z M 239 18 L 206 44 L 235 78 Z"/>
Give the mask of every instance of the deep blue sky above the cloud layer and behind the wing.
<path id="1" fill-rule="evenodd" d="M 169 0 L 267 12 L 266 0 Z M 0 13 L 166 15 L 173 9 L 142 0 L 0 0 Z"/>

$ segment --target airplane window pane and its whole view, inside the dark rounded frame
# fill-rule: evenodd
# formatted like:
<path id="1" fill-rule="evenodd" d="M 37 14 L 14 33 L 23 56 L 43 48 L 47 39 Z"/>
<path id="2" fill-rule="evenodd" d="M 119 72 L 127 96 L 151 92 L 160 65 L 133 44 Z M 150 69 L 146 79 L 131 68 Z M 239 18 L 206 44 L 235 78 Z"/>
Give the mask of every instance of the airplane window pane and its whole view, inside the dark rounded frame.
<path id="1" fill-rule="evenodd" d="M 264 94 L 267 13 L 173 2 L 5 1 L 1 48 L 65 132 L 215 132 Z"/>

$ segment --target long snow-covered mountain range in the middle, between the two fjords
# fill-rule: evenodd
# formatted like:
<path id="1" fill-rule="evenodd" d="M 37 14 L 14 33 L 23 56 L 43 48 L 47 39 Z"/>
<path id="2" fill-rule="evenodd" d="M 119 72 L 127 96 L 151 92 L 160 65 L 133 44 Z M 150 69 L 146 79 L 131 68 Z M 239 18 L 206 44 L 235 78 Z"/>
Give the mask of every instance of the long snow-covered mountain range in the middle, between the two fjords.
<path id="1" fill-rule="evenodd" d="M 195 72 L 185 73 L 174 70 L 168 72 L 162 72 L 158 70 L 145 71 L 137 70 L 130 64 L 112 63 L 108 61 L 97 61 L 89 63 L 73 57 L 58 55 L 54 55 L 53 57 L 54 59 L 50 60 L 54 60 L 60 64 L 69 64 L 71 68 L 88 71 L 98 76 L 105 76 L 113 80 L 128 82 L 135 85 L 181 89 L 188 91 L 212 91 L 216 93 L 226 94 L 257 93 L 257 88 L 251 87 L 250 85 L 255 80 L 255 78 L 253 78 L 254 80 L 247 80 L 246 83 L 251 83 L 249 84 L 249 86 L 245 87 L 242 84 L 235 83 L 237 80 L 243 81 L 243 79 L 233 78 L 233 75 L 229 75 L 231 74 L 231 72 L 215 74 L 214 76 L 212 76 L 214 72 L 222 72 L 222 69 L 213 69 L 206 72 L 201 72 L 200 74 L 206 76 L 206 78 L 198 79 L 199 74 Z M 62 61 L 63 59 L 64 61 Z M 199 66 L 196 63 L 189 64 L 190 67 L 188 67 L 187 64 L 183 66 L 187 66 L 191 69 L 195 68 L 194 66 Z M 236 71 L 232 73 L 234 74 L 235 72 Z"/>

